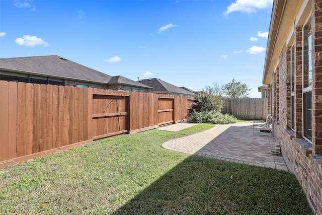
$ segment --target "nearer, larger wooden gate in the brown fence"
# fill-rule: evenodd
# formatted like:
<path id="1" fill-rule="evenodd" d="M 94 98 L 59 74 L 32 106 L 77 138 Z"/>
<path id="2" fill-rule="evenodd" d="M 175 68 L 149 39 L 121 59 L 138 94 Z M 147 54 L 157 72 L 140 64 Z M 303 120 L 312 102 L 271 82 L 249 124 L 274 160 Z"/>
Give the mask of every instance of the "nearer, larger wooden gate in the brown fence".
<path id="1" fill-rule="evenodd" d="M 129 94 L 93 91 L 93 139 L 129 131 Z"/>

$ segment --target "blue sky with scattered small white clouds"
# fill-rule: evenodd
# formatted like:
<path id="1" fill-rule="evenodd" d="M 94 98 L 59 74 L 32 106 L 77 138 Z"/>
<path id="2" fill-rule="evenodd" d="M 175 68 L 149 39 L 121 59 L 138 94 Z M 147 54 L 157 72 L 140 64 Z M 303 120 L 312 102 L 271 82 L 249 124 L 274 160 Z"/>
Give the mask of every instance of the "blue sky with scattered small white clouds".
<path id="1" fill-rule="evenodd" d="M 273 0 L 2 0 L 0 58 L 59 55 L 110 76 L 259 98 Z"/>

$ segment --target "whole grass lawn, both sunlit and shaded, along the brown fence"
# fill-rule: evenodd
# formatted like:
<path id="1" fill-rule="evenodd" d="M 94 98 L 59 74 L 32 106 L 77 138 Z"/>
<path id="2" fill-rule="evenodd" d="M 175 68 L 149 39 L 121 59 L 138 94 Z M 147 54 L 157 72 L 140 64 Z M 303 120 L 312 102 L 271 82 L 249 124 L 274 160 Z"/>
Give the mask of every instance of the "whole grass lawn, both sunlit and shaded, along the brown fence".
<path id="1" fill-rule="evenodd" d="M 290 172 L 161 146 L 211 127 L 121 135 L 2 168 L 0 214 L 313 214 Z"/>

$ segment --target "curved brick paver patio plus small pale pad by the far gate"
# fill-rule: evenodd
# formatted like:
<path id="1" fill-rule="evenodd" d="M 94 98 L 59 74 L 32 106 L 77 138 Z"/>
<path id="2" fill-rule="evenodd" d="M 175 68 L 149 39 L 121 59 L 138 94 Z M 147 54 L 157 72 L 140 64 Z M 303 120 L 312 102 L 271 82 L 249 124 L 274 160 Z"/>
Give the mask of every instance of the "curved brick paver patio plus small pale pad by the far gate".
<path id="1" fill-rule="evenodd" d="M 272 133 L 260 132 L 252 122 L 216 125 L 209 130 L 165 142 L 165 149 L 225 161 L 271 167 L 288 171 L 282 155 L 274 155 L 275 139 Z M 178 131 L 192 123 L 178 123 L 157 129 Z"/>

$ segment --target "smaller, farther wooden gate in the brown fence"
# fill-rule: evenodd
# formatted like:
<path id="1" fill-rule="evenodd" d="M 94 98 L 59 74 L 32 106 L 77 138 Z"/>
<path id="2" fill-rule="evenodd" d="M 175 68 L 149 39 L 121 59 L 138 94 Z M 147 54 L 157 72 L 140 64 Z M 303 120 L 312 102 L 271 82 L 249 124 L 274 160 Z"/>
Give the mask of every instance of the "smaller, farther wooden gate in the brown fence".
<path id="1" fill-rule="evenodd" d="M 158 97 L 157 104 L 157 117 L 158 125 L 165 125 L 174 123 L 175 112 L 174 112 L 175 98 L 172 97 Z"/>

